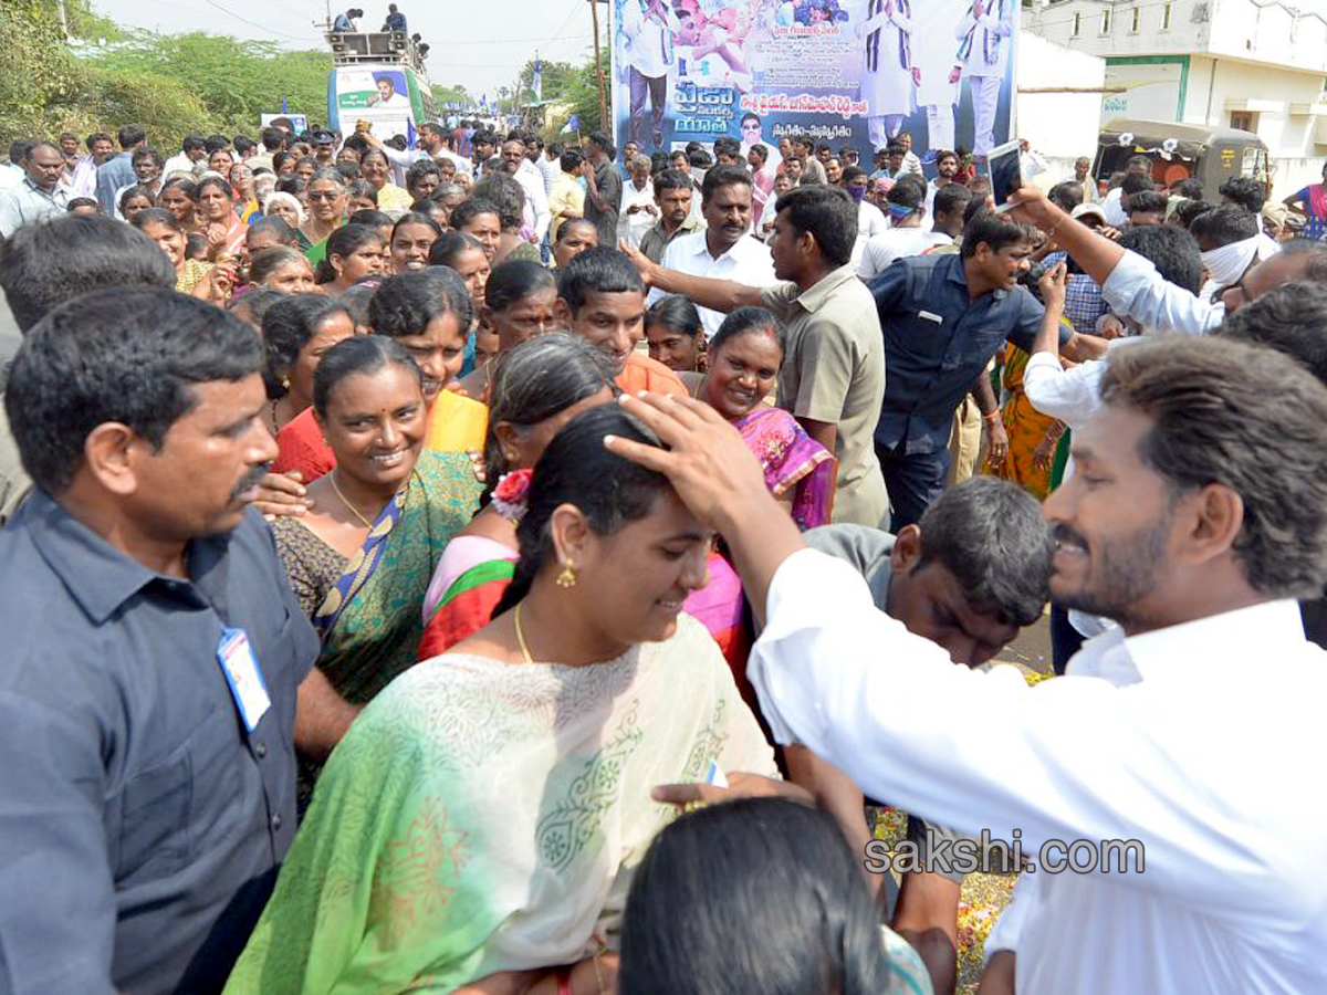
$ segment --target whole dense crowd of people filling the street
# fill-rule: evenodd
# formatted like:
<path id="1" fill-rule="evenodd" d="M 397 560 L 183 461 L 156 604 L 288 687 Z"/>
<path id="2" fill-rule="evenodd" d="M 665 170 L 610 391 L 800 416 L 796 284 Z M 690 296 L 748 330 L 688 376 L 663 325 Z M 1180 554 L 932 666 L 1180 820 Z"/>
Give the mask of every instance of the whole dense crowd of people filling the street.
<path id="1" fill-rule="evenodd" d="M 1327 990 L 1322 187 L 401 146 L 0 166 L 0 992 Z"/>

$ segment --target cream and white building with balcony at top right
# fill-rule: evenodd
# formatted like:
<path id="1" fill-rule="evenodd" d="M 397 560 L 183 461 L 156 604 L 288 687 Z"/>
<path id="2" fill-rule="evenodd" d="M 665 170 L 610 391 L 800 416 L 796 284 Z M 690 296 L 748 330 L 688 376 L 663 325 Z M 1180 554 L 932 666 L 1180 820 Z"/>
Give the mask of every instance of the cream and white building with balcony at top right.
<path id="1" fill-rule="evenodd" d="M 1282 0 L 1054 0 L 1024 8 L 1022 25 L 1105 58 L 1107 89 L 1124 90 L 1104 94 L 1100 123 L 1151 118 L 1253 131 L 1267 145 L 1278 200 L 1320 179 L 1322 15 Z"/>

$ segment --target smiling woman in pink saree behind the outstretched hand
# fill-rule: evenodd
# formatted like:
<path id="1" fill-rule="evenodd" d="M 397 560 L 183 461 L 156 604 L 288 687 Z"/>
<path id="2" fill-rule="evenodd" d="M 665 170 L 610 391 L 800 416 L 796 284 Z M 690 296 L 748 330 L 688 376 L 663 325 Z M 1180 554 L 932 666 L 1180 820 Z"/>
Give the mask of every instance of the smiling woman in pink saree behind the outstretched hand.
<path id="1" fill-rule="evenodd" d="M 709 371 L 698 397 L 742 432 L 764 468 L 770 492 L 805 531 L 829 521 L 835 459 L 791 414 L 766 403 L 782 365 L 778 318 L 764 308 L 738 308 L 710 340 Z M 721 551 L 710 555 L 709 572 L 709 584 L 691 593 L 685 610 L 710 630 L 750 700 L 746 657 L 751 639 L 742 581 Z"/>

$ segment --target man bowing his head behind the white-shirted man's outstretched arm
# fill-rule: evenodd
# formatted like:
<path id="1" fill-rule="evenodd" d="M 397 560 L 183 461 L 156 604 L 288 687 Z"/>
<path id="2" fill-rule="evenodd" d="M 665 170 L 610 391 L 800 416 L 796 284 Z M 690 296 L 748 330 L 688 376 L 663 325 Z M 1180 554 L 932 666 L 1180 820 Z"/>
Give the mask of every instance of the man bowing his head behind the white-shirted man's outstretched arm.
<path id="1" fill-rule="evenodd" d="M 1040 618 L 1050 597 L 1054 543 L 1040 507 L 1027 492 L 991 476 L 950 488 L 918 525 L 904 527 L 897 537 L 864 525 L 825 525 L 804 539 L 812 549 L 852 564 L 881 612 L 943 646 L 955 663 L 986 666 L 1020 626 Z M 808 756 L 804 750 L 788 752 L 790 769 L 803 784 L 799 768 Z M 817 787 L 824 785 L 815 792 L 817 800 L 861 844 L 860 792 L 817 758 L 809 772 Z M 926 870 L 902 876 L 893 927 L 922 955 L 936 992 L 953 992 L 963 874 L 933 862 L 930 844 L 945 848 L 963 837 L 909 817 L 908 838 Z"/>

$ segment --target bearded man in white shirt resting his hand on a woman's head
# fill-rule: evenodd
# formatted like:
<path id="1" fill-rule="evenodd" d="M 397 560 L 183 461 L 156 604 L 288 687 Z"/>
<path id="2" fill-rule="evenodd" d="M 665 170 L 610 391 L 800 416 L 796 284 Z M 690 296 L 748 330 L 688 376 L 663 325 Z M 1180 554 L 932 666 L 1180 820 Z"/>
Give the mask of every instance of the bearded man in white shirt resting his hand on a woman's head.
<path id="1" fill-rule="evenodd" d="M 1052 594 L 1120 628 L 1036 687 L 951 666 L 804 549 L 703 405 L 625 398 L 669 450 L 609 448 L 727 541 L 766 617 L 748 678 L 780 743 L 1019 841 L 1034 869 L 987 939 L 993 990 L 1327 991 L 1327 803 L 1304 788 L 1327 653 L 1291 600 L 1327 580 L 1327 389 L 1270 349 L 1165 337 L 1113 352 L 1101 393 L 1043 513 Z"/>

